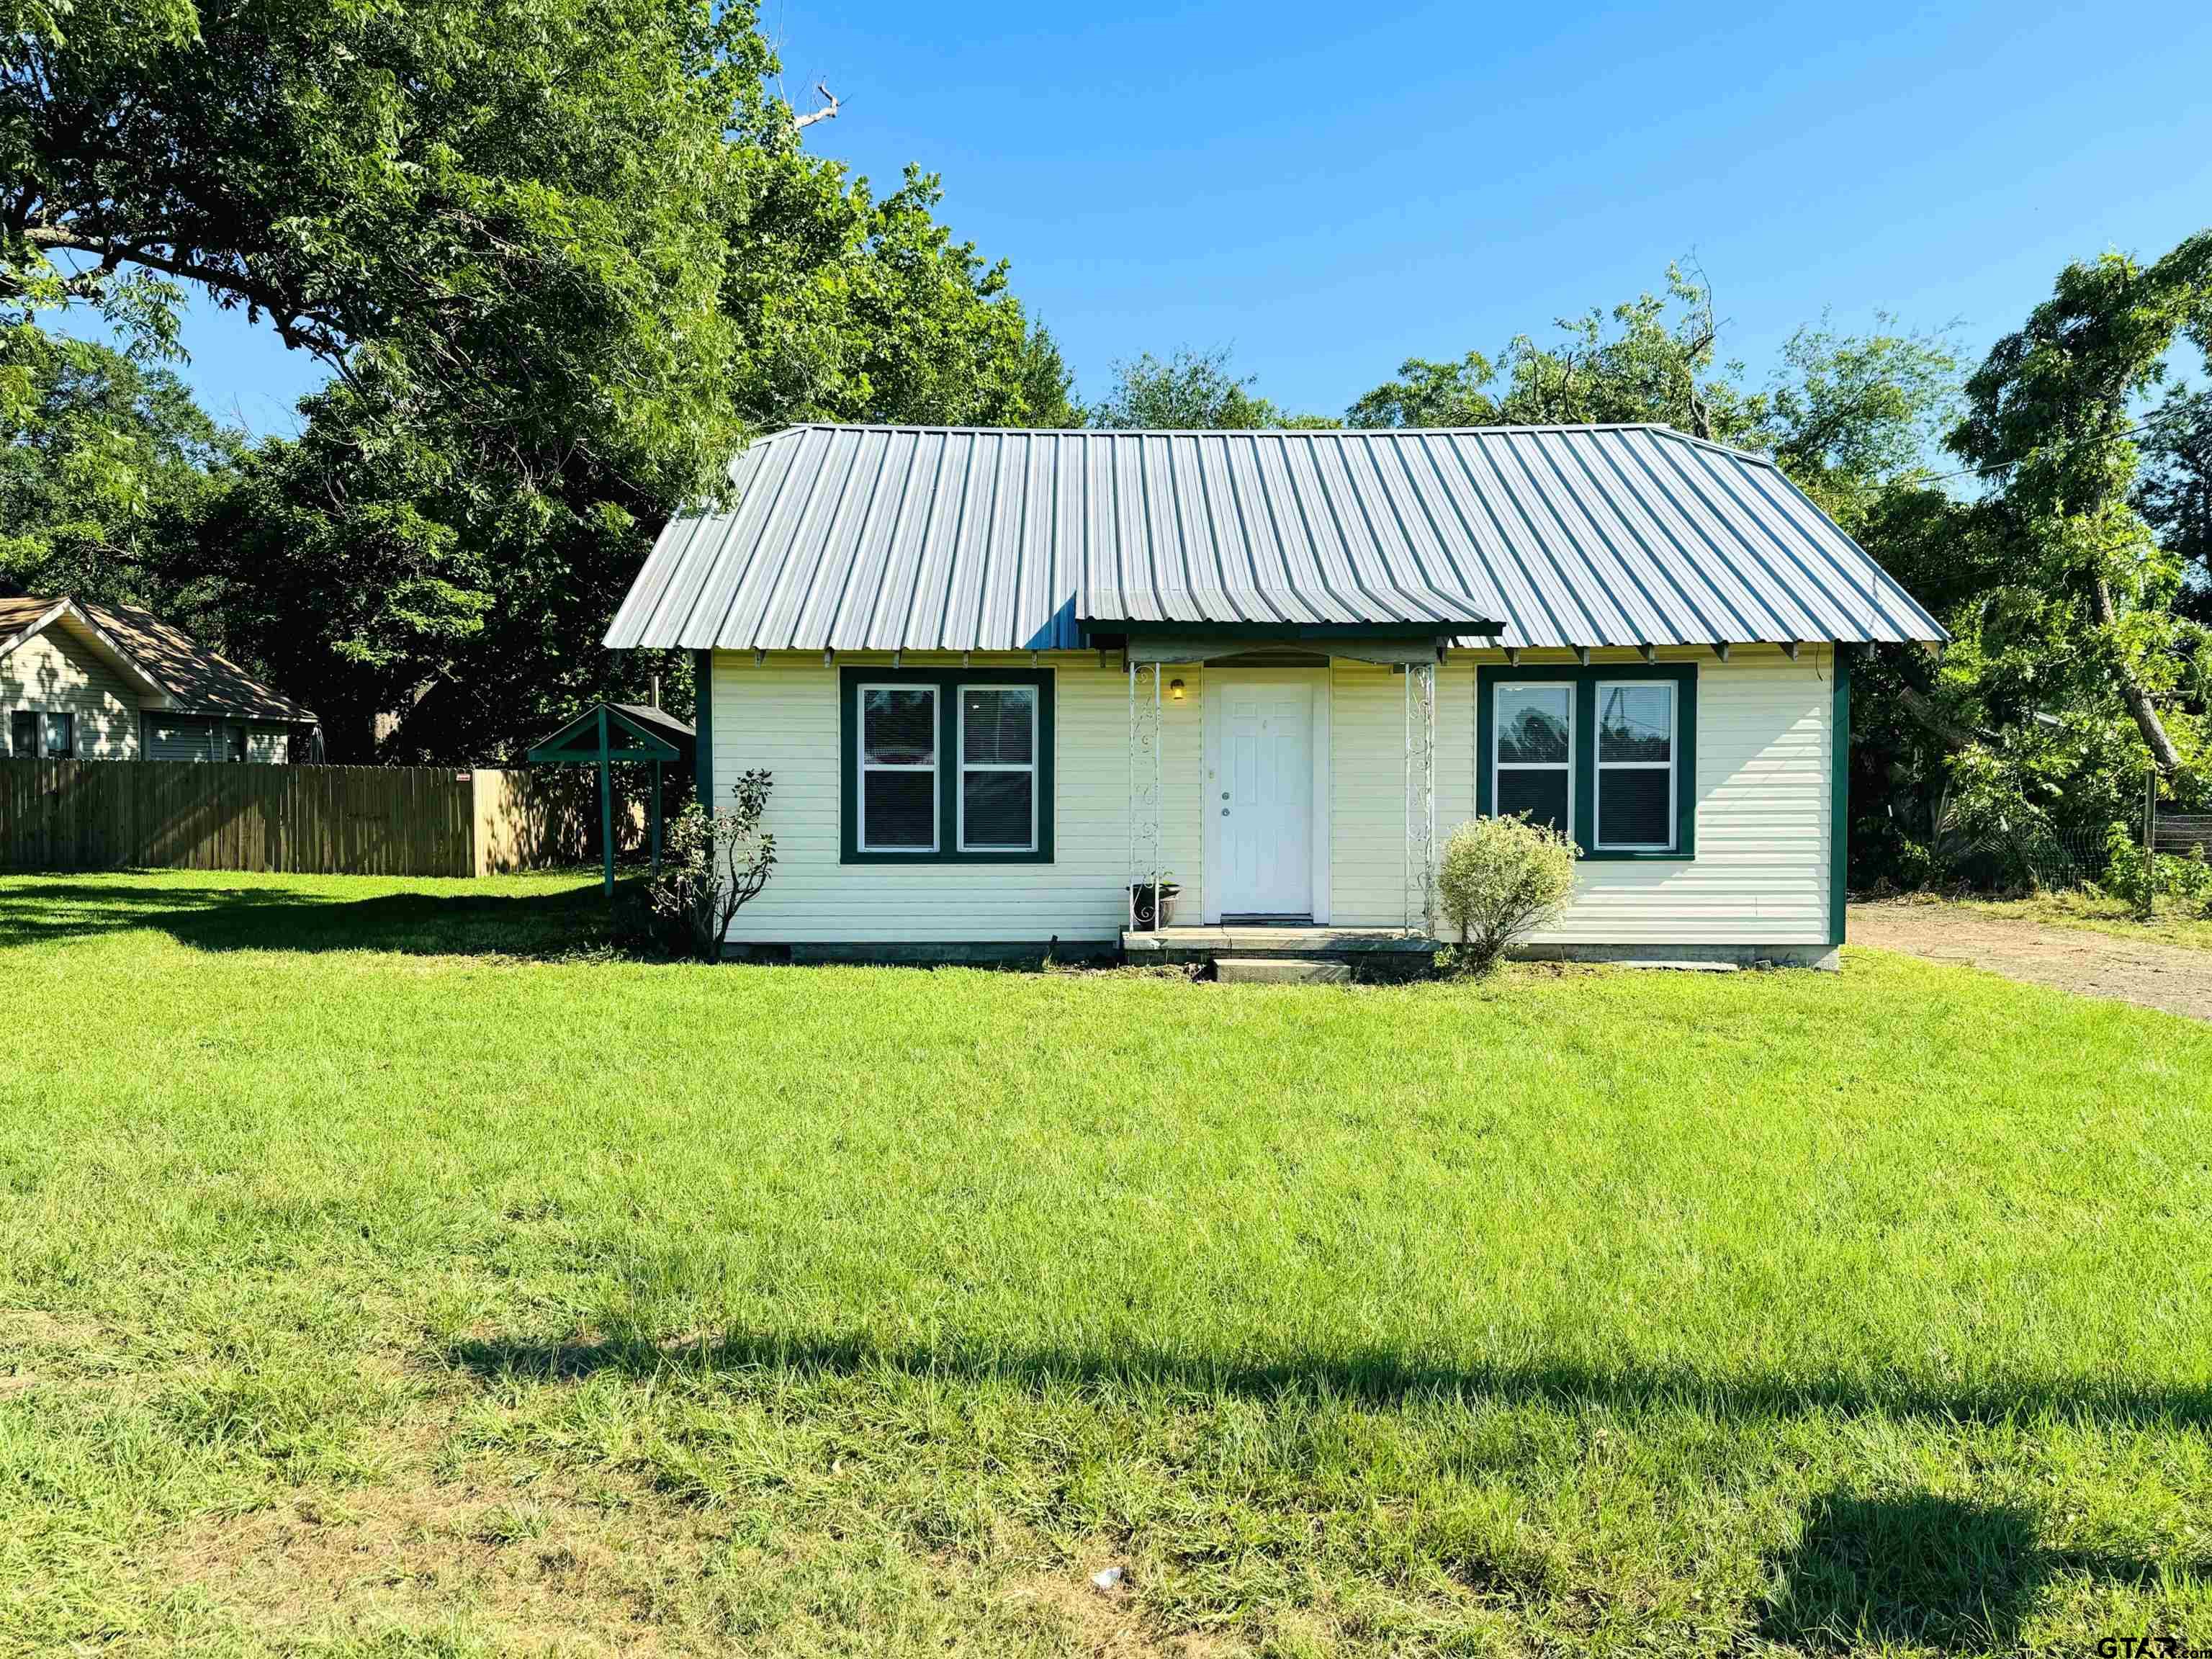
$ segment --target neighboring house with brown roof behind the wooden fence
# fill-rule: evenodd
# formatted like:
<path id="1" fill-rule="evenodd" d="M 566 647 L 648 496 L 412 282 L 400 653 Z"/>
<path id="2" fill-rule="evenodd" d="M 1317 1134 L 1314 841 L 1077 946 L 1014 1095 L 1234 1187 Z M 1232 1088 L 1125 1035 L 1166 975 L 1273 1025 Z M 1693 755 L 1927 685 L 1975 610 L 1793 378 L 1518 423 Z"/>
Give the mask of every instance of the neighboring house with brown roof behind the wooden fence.
<path id="1" fill-rule="evenodd" d="M 0 597 L 11 759 L 305 761 L 314 714 L 131 606 Z"/>

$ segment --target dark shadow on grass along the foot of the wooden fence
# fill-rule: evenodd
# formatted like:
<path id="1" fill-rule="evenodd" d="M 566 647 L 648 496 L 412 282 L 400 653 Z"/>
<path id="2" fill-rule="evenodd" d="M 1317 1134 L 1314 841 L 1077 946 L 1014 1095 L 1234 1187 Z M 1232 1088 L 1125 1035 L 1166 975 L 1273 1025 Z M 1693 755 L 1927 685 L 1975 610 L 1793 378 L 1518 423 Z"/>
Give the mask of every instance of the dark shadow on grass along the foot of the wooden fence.
<path id="1" fill-rule="evenodd" d="M 212 878 L 221 880 L 221 878 Z M 617 902 L 635 880 L 617 883 Z M 131 887 L 46 880 L 0 887 L 0 949 L 155 929 L 195 951 L 398 951 L 407 956 L 564 958 L 613 947 L 597 878 L 515 894 L 407 891 L 325 898 L 292 887 Z"/>

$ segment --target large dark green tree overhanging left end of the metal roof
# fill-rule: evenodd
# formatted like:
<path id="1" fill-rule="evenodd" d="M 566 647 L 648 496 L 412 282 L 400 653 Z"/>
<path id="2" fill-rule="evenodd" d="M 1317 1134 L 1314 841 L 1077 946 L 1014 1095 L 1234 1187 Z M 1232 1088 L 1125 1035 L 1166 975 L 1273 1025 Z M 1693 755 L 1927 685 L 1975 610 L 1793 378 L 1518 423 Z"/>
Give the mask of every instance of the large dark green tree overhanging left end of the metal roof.
<path id="1" fill-rule="evenodd" d="M 469 644 L 520 650 L 522 679 L 591 661 L 606 595 L 741 434 L 721 201 L 732 133 L 790 128 L 750 11 L 142 18 L 80 0 L 7 46 L 0 305 L 88 303 L 159 347 L 192 283 L 338 376 L 164 577 L 288 664 L 345 759 L 374 712 L 354 692 L 465 684 Z M 462 701 L 502 734 L 557 703 Z"/>

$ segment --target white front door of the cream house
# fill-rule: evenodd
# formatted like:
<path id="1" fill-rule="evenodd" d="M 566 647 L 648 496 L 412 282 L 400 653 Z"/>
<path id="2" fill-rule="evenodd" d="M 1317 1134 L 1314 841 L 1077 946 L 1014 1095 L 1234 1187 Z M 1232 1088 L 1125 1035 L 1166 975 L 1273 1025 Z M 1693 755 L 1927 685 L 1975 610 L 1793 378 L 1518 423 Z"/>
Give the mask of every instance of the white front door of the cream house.
<path id="1" fill-rule="evenodd" d="M 1208 677 L 1219 748 L 1208 779 L 1214 916 L 1314 914 L 1314 679 Z"/>

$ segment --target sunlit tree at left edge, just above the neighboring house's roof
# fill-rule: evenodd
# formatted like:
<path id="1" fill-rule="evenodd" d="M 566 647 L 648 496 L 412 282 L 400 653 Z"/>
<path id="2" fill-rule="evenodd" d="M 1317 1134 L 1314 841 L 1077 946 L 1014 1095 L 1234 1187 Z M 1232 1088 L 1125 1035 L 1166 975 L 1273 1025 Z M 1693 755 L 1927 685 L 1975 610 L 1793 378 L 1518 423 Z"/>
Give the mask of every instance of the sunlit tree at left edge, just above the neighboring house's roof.
<path id="1" fill-rule="evenodd" d="M 0 582 L 135 602 L 239 451 L 164 367 L 0 325 Z"/>

